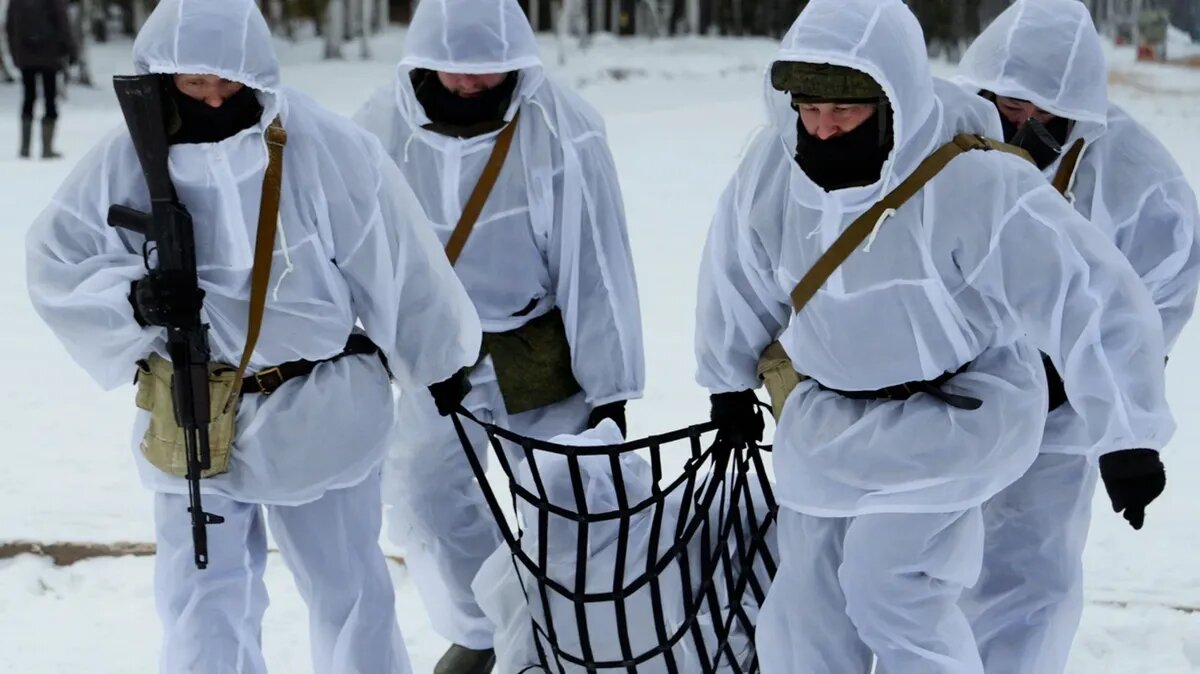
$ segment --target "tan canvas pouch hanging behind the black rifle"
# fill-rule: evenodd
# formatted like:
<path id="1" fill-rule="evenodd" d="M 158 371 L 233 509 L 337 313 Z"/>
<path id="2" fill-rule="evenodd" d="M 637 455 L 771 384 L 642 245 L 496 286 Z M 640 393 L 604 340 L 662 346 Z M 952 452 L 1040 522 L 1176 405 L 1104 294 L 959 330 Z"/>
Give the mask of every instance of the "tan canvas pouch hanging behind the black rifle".
<path id="1" fill-rule="evenodd" d="M 170 361 L 151 354 L 138 362 L 137 405 L 150 413 L 150 426 L 142 438 L 142 456 L 151 465 L 176 477 L 187 477 L 187 446 L 184 429 L 175 422 L 175 402 L 172 385 L 174 368 Z M 230 401 L 240 396 L 241 379 L 238 368 L 222 363 L 209 366 L 209 451 L 212 467 L 200 477 L 221 475 L 229 470 L 229 452 L 236 432 L 238 404 Z"/>

